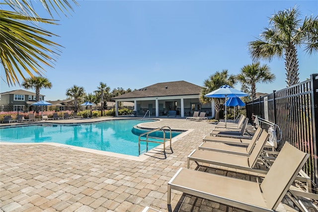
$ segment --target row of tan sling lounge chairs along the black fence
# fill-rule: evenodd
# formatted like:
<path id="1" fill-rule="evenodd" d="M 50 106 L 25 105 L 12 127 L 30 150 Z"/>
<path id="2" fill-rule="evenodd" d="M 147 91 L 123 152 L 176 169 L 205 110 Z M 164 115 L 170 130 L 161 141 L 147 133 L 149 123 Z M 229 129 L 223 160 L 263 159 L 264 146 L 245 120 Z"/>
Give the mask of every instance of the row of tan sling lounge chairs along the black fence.
<path id="1" fill-rule="evenodd" d="M 253 136 L 244 135 L 248 118 L 242 116 L 238 123 L 227 123 L 227 128 L 219 123 L 205 136 L 197 150 L 187 157 L 187 168 L 180 168 L 167 185 L 167 204 L 170 205 L 171 190 L 177 190 L 248 211 L 275 211 L 287 195 L 301 210 L 299 196 L 317 199 L 317 195 L 291 189 L 295 179 L 299 177 L 301 168 L 309 154 L 302 152 L 286 142 L 276 158 L 264 157 L 265 149 L 271 148 L 267 142 L 269 134 L 258 127 Z M 238 132 L 236 135 L 234 132 Z M 235 169 L 238 173 L 246 173 L 263 177 L 261 183 L 251 182 L 223 175 L 191 170 L 190 161 L 212 165 L 217 169 Z M 267 163 L 266 168 L 256 165 Z M 197 167 L 197 168 L 198 168 Z M 191 177 L 189 177 L 191 176 Z M 308 176 L 307 176 L 308 177 Z M 310 179 L 309 179 L 310 182 Z M 308 185 L 311 189 L 311 185 Z"/>

